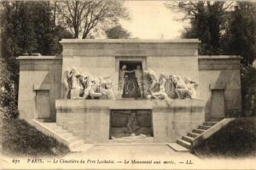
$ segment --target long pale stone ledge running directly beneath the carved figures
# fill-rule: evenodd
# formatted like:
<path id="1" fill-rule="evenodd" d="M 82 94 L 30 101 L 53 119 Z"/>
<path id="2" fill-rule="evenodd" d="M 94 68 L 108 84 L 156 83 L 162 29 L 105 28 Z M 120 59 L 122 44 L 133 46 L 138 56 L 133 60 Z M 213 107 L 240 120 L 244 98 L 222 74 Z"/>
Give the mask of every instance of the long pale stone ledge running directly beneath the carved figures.
<path id="1" fill-rule="evenodd" d="M 102 108 L 110 110 L 152 110 L 166 108 L 204 108 L 205 102 L 201 99 L 172 99 L 169 104 L 165 100 L 130 100 L 130 99 L 56 99 L 57 110 L 65 108 Z"/>

